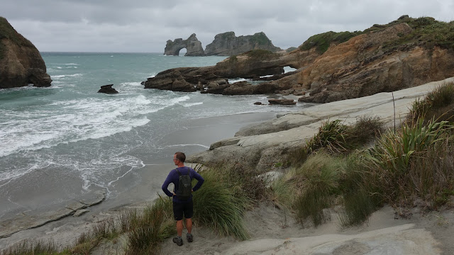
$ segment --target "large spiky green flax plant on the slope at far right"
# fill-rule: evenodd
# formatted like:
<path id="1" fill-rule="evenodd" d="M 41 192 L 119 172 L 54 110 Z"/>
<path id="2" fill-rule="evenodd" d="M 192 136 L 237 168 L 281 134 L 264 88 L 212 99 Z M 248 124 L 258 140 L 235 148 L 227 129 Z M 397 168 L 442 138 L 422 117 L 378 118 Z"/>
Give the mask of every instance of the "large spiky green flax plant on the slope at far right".
<path id="1" fill-rule="evenodd" d="M 431 120 L 424 125 L 423 119 L 418 119 L 414 126 L 404 124 L 396 134 L 387 132 L 365 154 L 370 183 L 380 188 L 387 202 L 395 203 L 399 196 L 404 196 L 405 189 L 412 187 L 411 164 L 426 157 L 429 149 L 438 147 L 452 129 L 447 121 L 437 123 Z"/>

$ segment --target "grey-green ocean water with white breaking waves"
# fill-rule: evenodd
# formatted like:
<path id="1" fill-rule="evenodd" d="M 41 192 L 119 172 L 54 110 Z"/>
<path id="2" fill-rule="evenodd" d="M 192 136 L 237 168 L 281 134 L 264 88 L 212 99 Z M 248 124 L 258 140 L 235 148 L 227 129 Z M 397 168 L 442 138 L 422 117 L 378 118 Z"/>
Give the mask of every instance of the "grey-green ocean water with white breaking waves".
<path id="1" fill-rule="evenodd" d="M 157 53 L 43 52 L 52 86 L 0 90 L 0 217 L 62 203 L 102 189 L 172 152 L 209 145 L 166 140 L 186 123 L 237 113 L 296 111 L 255 106 L 266 95 L 221 96 L 144 89 L 141 81 L 173 67 L 216 64 L 225 57 Z M 114 84 L 119 94 L 96 93 Z"/>

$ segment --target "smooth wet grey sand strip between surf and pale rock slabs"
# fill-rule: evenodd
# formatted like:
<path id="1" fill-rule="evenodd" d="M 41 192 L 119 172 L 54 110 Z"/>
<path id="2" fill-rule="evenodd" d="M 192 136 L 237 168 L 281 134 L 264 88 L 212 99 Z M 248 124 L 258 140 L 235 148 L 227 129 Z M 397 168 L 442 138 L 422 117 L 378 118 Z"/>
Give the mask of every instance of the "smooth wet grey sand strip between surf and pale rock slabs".
<path id="1" fill-rule="evenodd" d="M 174 152 L 182 151 L 189 155 L 204 151 L 218 140 L 233 137 L 241 128 L 276 118 L 279 113 L 240 113 L 191 120 L 177 132 L 162 137 L 162 140 L 165 140 L 165 146 L 168 147 L 169 157 L 151 161 L 142 159 L 145 166 L 134 169 L 116 181 L 114 188 L 121 190 L 121 192 L 116 194 L 115 197 L 106 196 L 105 200 L 104 198 L 96 200 L 93 205 L 81 208 L 89 211 L 79 217 L 73 216 L 77 210 L 70 211 L 68 209 L 75 209 L 76 200 L 72 203 L 71 201 L 60 203 L 53 208 L 40 208 L 39 212 L 26 211 L 8 215 L 9 217 L 2 217 L 0 226 L 4 232 L 7 232 L 5 231 L 6 223 L 9 223 L 10 227 L 16 228 L 18 231 L 13 230 L 11 234 L 7 234 L 8 237 L 0 238 L 0 249 L 5 249 L 23 239 L 52 239 L 55 244 L 62 246 L 72 244 L 79 237 L 79 234 L 90 229 L 89 226 L 94 222 L 108 217 L 116 217 L 121 211 L 128 208 L 144 208 L 157 198 L 157 193 L 163 194 L 162 182 L 168 172 L 175 168 L 170 160 Z M 128 181 L 131 181 L 131 178 L 140 181 L 134 186 L 130 186 Z M 60 216 L 43 223 L 43 217 L 49 220 L 49 214 L 52 214 L 52 210 Z M 28 220 L 24 220 L 24 215 Z M 18 219 L 21 219 L 20 224 L 17 224 Z M 11 220 L 16 222 L 11 225 L 11 222 L 9 222 Z M 31 228 L 18 229 L 27 224 Z"/>

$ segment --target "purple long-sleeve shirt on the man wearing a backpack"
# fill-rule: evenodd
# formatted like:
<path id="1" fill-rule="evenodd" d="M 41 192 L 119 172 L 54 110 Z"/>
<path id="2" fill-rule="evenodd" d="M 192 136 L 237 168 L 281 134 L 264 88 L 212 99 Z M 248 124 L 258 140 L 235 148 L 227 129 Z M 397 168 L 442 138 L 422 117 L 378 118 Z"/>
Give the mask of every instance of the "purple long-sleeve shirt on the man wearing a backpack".
<path id="1" fill-rule="evenodd" d="M 194 169 L 192 169 L 188 166 L 178 167 L 177 169 L 178 169 L 179 173 L 182 175 L 187 174 L 187 171 L 189 171 L 189 176 L 191 177 L 191 180 L 192 179 L 197 180 L 197 183 L 192 188 L 192 191 L 198 190 L 205 181 L 204 178 L 199 173 L 197 173 L 196 171 L 194 171 Z M 167 176 L 164 183 L 162 184 L 162 187 L 161 187 L 162 191 L 164 191 L 164 193 L 167 196 L 170 196 L 171 198 L 173 197 L 173 200 L 177 203 L 189 202 L 190 200 L 192 200 L 192 195 L 191 195 L 191 198 L 189 198 L 189 200 L 179 200 L 177 198 L 177 196 L 173 196 L 173 193 L 169 191 L 168 187 L 169 187 L 170 183 L 173 183 L 175 191 L 178 190 L 178 180 L 179 180 L 179 174 L 176 169 L 173 169 L 172 171 L 170 171 L 169 175 Z"/>

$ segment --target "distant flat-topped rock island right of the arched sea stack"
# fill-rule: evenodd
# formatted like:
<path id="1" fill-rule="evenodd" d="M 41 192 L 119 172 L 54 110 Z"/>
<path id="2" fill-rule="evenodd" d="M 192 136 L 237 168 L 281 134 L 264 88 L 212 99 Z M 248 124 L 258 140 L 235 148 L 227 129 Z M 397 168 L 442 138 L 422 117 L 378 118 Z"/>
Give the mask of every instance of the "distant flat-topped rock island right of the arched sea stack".
<path id="1" fill-rule="evenodd" d="M 213 42 L 206 45 L 205 54 L 207 56 L 232 56 L 250 50 L 269 50 L 278 52 L 282 49 L 272 45 L 265 33 L 255 33 L 254 35 L 240 35 L 236 37 L 233 32 L 220 33 L 214 37 Z"/>

